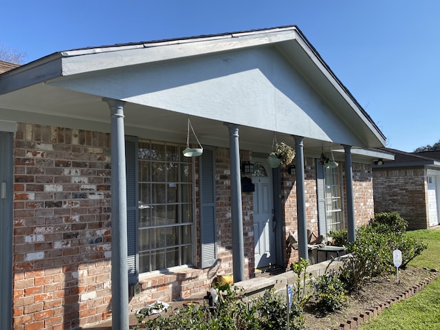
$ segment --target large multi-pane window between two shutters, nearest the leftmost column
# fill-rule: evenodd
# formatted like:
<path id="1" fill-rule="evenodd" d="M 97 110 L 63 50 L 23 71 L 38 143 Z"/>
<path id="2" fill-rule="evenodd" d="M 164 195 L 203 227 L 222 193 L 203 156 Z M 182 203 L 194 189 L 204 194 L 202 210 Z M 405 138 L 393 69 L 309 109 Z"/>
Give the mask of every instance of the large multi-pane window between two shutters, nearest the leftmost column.
<path id="1" fill-rule="evenodd" d="M 178 144 L 138 144 L 138 272 L 192 263 L 194 177 Z"/>

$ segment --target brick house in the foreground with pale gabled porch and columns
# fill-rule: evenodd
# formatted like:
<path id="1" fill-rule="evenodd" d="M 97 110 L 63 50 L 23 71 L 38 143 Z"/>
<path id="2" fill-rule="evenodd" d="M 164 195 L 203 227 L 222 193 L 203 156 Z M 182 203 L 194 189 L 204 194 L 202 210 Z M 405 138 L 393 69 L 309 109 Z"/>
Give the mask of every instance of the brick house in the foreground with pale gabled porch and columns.
<path id="1" fill-rule="evenodd" d="M 182 155 L 188 118 L 199 157 Z M 1 329 L 112 310 L 126 329 L 128 310 L 217 275 L 288 268 L 307 229 L 354 239 L 374 214 L 371 164 L 392 158 L 296 26 L 45 56 L 0 75 L 0 132 Z M 294 166 L 268 166 L 274 137 Z"/>

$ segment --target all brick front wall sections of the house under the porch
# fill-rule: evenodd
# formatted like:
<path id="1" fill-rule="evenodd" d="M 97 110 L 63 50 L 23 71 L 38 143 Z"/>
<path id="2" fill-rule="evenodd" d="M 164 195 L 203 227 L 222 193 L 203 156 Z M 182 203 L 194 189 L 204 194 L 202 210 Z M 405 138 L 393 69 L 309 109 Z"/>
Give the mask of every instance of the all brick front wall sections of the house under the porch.
<path id="1" fill-rule="evenodd" d="M 111 317 L 109 134 L 19 124 L 14 143 L 14 329 L 78 329 Z M 241 159 L 251 157 L 241 151 Z M 205 270 L 182 267 L 142 277 L 140 294 L 130 297 L 132 311 L 156 300 L 202 295 L 215 276 L 232 274 L 228 148 L 217 148 L 216 159 L 219 261 Z M 354 172 L 362 222 L 373 213 L 371 168 L 359 165 Z M 198 200 L 197 180 L 196 174 Z M 297 230 L 296 177 L 283 167 L 281 180 L 287 239 Z M 318 232 L 313 158 L 305 159 L 305 192 L 307 224 Z M 245 278 L 254 276 L 252 196 L 242 192 Z M 283 244 L 286 265 L 298 260 L 298 252 Z"/>

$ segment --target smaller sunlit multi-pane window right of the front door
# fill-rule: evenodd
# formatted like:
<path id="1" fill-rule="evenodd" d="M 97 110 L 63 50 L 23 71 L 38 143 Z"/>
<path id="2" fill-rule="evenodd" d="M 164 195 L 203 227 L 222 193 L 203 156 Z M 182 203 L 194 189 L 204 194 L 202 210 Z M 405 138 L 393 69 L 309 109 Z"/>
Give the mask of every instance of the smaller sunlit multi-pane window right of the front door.
<path id="1" fill-rule="evenodd" d="M 344 212 L 342 210 L 342 186 L 340 168 L 325 168 L 324 197 L 325 220 L 327 232 L 340 231 L 344 228 Z"/>

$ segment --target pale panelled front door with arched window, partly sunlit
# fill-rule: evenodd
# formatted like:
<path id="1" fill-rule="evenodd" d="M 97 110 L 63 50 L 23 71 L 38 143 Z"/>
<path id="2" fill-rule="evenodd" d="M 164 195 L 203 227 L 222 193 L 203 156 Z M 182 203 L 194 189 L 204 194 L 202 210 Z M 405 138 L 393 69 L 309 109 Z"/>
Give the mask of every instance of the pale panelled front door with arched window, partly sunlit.
<path id="1" fill-rule="evenodd" d="M 253 176 L 254 191 L 254 244 L 255 268 L 276 263 L 274 196 L 272 190 L 272 170 L 261 159 L 254 166 L 260 168 L 261 176 Z M 259 167 L 260 166 L 260 167 Z M 262 170 L 264 169 L 264 171 Z"/>

